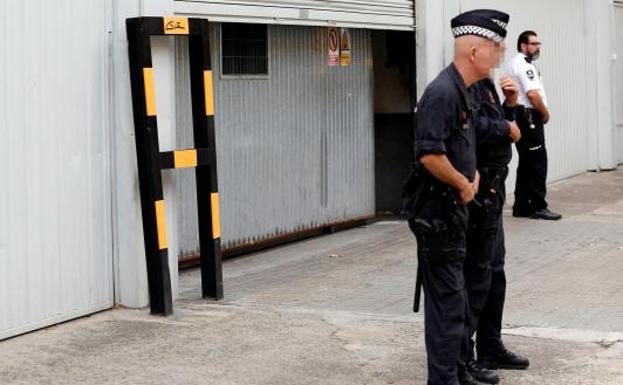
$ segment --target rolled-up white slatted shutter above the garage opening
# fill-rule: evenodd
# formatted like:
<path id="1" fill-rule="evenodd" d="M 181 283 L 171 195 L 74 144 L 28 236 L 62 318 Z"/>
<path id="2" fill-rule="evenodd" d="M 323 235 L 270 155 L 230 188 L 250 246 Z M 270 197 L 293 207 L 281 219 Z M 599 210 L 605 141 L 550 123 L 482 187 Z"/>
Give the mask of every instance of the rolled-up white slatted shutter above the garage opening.
<path id="1" fill-rule="evenodd" d="M 413 0 L 175 0 L 175 12 L 211 21 L 413 30 Z"/>

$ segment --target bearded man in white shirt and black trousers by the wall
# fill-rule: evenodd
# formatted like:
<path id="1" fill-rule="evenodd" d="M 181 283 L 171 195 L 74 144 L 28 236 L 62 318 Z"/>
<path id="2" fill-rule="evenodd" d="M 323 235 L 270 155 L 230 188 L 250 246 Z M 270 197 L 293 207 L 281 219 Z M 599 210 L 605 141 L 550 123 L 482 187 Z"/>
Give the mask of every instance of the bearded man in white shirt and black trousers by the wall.
<path id="1" fill-rule="evenodd" d="M 534 61 L 541 54 L 541 42 L 534 31 L 524 31 L 517 39 L 519 53 L 511 60 L 509 72 L 519 83 L 519 103 L 525 114 L 517 123 L 522 139 L 517 142 L 519 165 L 515 185 L 513 216 L 558 220 L 560 214 L 547 208 L 547 150 L 543 125 L 549 121 L 547 96 L 539 69 Z"/>

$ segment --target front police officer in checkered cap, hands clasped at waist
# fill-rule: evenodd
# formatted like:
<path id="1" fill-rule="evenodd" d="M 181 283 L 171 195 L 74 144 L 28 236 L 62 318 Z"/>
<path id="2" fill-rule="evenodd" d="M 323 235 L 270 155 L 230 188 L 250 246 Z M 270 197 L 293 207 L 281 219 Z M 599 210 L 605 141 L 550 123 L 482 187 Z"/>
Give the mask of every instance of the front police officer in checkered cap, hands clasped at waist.
<path id="1" fill-rule="evenodd" d="M 477 192 L 475 104 L 468 87 L 500 60 L 506 30 L 478 11 L 451 22 L 454 60 L 418 103 L 416 170 L 420 177 L 405 211 L 418 244 L 425 294 L 428 385 L 482 384 L 464 369 L 469 317 L 463 276 L 466 205 Z"/>

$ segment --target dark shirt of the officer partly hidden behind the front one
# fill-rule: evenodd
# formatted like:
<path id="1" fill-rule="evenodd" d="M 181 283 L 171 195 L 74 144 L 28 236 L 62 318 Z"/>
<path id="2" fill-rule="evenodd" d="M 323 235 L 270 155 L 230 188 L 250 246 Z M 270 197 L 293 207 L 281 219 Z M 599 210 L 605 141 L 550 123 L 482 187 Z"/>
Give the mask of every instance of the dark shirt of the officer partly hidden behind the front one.
<path id="1" fill-rule="evenodd" d="M 476 82 L 470 87 L 478 106 L 476 125 L 476 158 L 482 167 L 506 167 L 513 156 L 510 127 L 507 117 L 512 110 L 504 110 L 495 86 L 490 79 Z"/>

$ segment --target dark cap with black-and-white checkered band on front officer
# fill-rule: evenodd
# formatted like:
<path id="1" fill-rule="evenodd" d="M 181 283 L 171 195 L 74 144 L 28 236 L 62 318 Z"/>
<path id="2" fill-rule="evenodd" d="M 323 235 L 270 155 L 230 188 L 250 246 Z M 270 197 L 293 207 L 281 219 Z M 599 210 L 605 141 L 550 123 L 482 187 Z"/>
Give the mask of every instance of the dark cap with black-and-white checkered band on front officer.
<path id="1" fill-rule="evenodd" d="M 508 14 L 493 9 L 475 9 L 456 16 L 450 22 L 455 38 L 476 35 L 501 43 L 506 37 Z"/>

